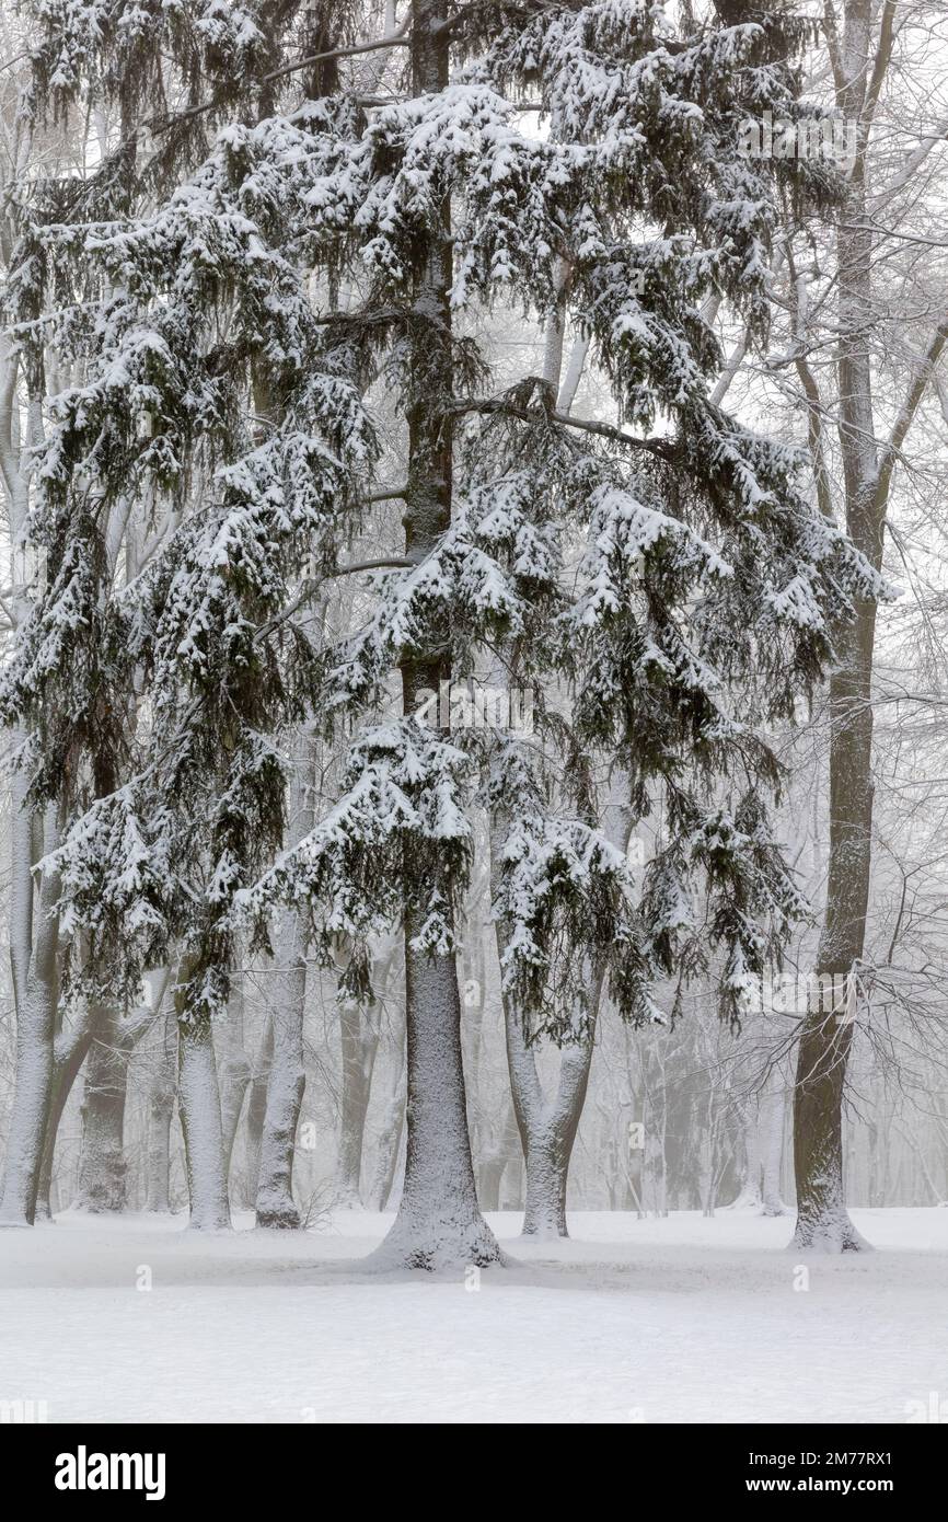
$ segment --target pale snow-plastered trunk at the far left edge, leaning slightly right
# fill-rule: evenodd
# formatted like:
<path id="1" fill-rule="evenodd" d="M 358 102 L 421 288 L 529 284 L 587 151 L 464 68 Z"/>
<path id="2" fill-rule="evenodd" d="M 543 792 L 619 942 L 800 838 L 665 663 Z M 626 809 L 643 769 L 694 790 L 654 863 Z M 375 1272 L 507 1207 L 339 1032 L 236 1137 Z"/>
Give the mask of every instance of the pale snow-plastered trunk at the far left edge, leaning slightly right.
<path id="1" fill-rule="evenodd" d="M 44 848 L 53 849 L 56 839 L 55 810 L 50 807 L 46 811 Z M 24 887 L 18 886 L 17 890 L 24 890 Z M 58 892 L 59 884 L 55 874 L 44 872 L 37 922 L 32 927 L 32 953 L 26 977 L 23 977 L 21 965 L 14 968 L 14 976 L 18 974 L 21 979 L 21 998 L 17 1006 L 14 1108 L 0 1193 L 0 1224 L 3 1225 L 32 1225 L 37 1215 L 43 1148 L 53 1087 L 53 1040 L 59 997 L 59 925 L 58 915 L 52 913 Z M 18 913 L 26 918 L 21 907 Z"/>

